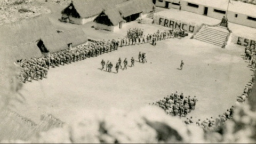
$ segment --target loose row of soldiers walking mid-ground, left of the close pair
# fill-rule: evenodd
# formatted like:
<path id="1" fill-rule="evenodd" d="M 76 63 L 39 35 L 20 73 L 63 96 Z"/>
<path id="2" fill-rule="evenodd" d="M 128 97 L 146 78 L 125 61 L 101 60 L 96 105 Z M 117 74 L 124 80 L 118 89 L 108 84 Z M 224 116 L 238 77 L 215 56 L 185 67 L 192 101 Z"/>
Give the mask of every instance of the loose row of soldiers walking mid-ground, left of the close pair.
<path id="1" fill-rule="evenodd" d="M 135 62 L 135 60 L 134 60 L 134 58 L 132 57 L 131 58 L 131 67 L 134 67 L 134 62 Z M 102 68 L 101 68 L 101 70 L 103 70 L 104 68 L 105 68 L 105 65 L 106 65 L 106 71 L 108 71 L 109 73 L 111 73 L 112 72 L 112 68 L 113 68 L 113 63 L 111 63 L 111 62 L 109 62 L 109 61 L 107 61 L 107 63 L 104 61 L 104 60 L 101 60 L 101 66 L 102 66 Z M 119 58 L 118 59 L 118 62 L 116 62 L 116 66 L 115 66 L 115 69 L 116 69 L 116 74 L 118 73 L 118 70 L 119 69 L 127 69 L 127 65 L 128 65 L 128 61 L 127 61 L 127 59 L 125 58 L 124 59 L 124 61 L 123 61 L 123 67 L 122 67 L 122 60 L 121 60 L 121 58 Z"/>

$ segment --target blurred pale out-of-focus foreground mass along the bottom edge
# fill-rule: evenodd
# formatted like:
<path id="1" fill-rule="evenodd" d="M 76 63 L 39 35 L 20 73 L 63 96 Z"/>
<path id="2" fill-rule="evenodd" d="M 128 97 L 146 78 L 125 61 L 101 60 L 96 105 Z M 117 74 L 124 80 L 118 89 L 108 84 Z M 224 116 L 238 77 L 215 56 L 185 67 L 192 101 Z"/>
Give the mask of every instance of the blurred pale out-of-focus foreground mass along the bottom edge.
<path id="1" fill-rule="evenodd" d="M 41 132 L 26 141 L 4 143 L 253 143 L 256 115 L 249 105 L 239 104 L 234 118 L 222 127 L 222 133 L 204 131 L 196 124 L 186 125 L 179 118 L 166 115 L 156 106 L 126 113 L 91 111 L 70 125 Z"/>

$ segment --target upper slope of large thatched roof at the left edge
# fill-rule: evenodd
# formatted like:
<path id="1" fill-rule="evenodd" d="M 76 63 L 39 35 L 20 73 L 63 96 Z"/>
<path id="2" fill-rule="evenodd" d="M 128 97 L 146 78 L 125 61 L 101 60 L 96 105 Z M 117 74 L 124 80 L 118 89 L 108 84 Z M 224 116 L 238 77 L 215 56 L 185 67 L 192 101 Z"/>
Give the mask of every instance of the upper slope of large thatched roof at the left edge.
<path id="1" fill-rule="evenodd" d="M 41 36 L 57 33 L 49 19 L 44 16 L 3 25 L 0 31 L 0 44 L 6 47 L 36 41 Z"/>

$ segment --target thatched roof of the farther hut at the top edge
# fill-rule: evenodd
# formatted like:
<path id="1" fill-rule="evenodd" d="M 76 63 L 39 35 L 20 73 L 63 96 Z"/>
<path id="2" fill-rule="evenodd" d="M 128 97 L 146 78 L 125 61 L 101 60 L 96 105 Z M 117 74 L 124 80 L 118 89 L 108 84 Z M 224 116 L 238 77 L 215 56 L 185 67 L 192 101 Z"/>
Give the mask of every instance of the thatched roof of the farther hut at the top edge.
<path id="1" fill-rule="evenodd" d="M 116 4 L 126 2 L 127 0 L 73 0 L 61 13 L 70 6 L 74 6 L 76 12 L 81 18 L 89 18 L 100 14 L 103 10 L 115 7 Z"/>

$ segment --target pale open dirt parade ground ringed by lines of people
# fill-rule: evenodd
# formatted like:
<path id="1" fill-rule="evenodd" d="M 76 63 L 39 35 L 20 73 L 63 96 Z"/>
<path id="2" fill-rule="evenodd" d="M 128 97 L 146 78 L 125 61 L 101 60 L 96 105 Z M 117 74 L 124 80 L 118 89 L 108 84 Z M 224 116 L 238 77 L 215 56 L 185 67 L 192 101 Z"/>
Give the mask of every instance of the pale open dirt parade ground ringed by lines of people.
<path id="1" fill-rule="evenodd" d="M 47 79 L 24 85 L 21 93 L 26 101 L 15 103 L 15 111 L 35 122 L 41 114 L 49 113 L 71 123 L 86 115 L 85 109 L 134 110 L 178 91 L 198 99 L 189 117 L 218 117 L 235 104 L 253 71 L 243 59 L 244 47 L 230 44 L 221 49 L 189 38 L 166 39 L 156 46 L 125 46 L 51 68 Z M 147 54 L 147 63 L 138 62 L 139 52 Z M 131 57 L 134 67 L 130 67 Z M 115 67 L 119 58 L 127 58 L 127 70 L 121 69 L 118 74 L 115 68 L 113 73 L 101 70 L 102 59 Z M 185 65 L 179 70 L 181 60 Z"/>

